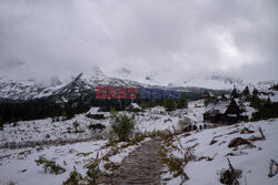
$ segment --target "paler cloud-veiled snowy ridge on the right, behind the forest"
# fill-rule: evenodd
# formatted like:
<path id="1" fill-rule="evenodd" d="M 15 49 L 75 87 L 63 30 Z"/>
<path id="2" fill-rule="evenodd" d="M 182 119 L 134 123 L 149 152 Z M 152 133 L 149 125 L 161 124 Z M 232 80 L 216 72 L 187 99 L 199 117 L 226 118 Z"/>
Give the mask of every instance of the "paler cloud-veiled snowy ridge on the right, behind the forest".
<path id="1" fill-rule="evenodd" d="M 132 79 L 132 72 L 126 72 L 127 70 L 120 70 L 117 72 L 118 76 L 125 79 Z M 175 75 L 175 74 L 173 74 Z M 257 88 L 260 90 L 269 89 L 272 84 L 277 84 L 277 80 L 270 81 L 245 81 L 241 79 L 226 76 L 224 74 L 212 74 L 212 75 L 195 75 L 186 79 L 182 78 L 171 78 L 172 75 L 160 73 L 156 71 L 151 71 L 146 73 L 145 75 L 137 76 L 136 81 L 149 84 L 149 85 L 161 85 L 168 88 L 182 86 L 182 88 L 205 88 L 205 89 L 214 89 L 214 90 L 232 90 L 234 86 L 237 89 L 245 89 L 249 86 L 250 89 Z M 176 79 L 176 80 L 170 80 Z"/>

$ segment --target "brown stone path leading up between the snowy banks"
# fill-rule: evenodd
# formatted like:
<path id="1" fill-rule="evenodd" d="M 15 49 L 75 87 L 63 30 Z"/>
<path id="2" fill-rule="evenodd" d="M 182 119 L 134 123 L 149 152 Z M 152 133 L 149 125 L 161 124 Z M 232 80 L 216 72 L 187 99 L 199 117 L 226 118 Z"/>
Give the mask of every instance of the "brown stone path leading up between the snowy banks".
<path id="1" fill-rule="evenodd" d="M 156 140 L 145 142 L 142 146 L 131 152 L 123 158 L 121 166 L 105 184 L 160 184 L 160 171 L 162 168 L 160 145 Z"/>

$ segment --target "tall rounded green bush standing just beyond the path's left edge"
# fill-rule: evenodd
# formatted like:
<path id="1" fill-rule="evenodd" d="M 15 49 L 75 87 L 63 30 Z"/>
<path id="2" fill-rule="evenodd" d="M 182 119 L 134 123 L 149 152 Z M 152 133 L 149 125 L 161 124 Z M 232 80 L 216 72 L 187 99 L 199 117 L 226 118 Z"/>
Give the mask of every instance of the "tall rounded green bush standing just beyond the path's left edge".
<path id="1" fill-rule="evenodd" d="M 135 116 L 130 117 L 127 114 L 113 115 L 111 129 L 120 142 L 127 141 L 135 129 Z"/>

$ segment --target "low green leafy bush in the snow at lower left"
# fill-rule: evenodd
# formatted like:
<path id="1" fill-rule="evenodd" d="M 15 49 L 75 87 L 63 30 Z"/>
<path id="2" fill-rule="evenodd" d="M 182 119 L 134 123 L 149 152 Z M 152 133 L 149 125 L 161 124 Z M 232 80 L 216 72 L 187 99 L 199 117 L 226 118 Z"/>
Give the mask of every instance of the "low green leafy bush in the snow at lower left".
<path id="1" fill-rule="evenodd" d="M 34 160 L 37 165 L 43 165 L 44 173 L 51 173 L 51 174 L 62 174 L 66 172 L 63 167 L 61 167 L 59 164 L 56 164 L 54 161 L 49 161 L 42 156 L 39 157 L 39 160 Z"/>

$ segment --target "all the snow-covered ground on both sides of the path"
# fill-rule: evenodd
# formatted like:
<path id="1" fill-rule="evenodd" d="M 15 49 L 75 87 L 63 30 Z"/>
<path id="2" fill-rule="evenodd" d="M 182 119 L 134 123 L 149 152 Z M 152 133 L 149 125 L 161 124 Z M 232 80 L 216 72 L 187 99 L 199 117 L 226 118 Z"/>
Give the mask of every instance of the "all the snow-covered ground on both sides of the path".
<path id="1" fill-rule="evenodd" d="M 275 100 L 276 93 L 272 96 Z M 239 102 L 238 100 L 236 100 Z M 245 102 L 245 114 L 251 116 L 255 112 L 249 106 L 249 102 Z M 188 109 L 176 110 L 172 112 L 165 111 L 161 106 L 147 109 L 143 112 L 130 113 L 136 115 L 136 133 L 155 133 L 156 131 L 175 131 L 180 129 L 179 122 L 189 119 L 192 124 L 203 124 L 202 114 L 211 109 L 210 105 L 205 106 L 203 100 L 189 102 Z M 75 132 L 73 123 L 78 122 L 78 132 Z M 106 126 L 103 131 L 91 131 L 90 124 L 102 124 Z M 240 134 L 244 127 L 255 131 L 249 134 Z M 256 147 L 246 147 L 240 145 L 237 150 L 228 147 L 230 141 L 235 137 L 250 138 L 252 135 L 260 136 L 258 129 L 261 127 L 266 140 L 251 142 Z M 108 162 L 120 164 L 131 151 L 140 146 L 141 142 L 150 140 L 146 137 L 138 144 L 129 145 L 127 143 L 117 143 L 109 145 L 108 132 L 110 129 L 110 117 L 105 120 L 93 120 L 85 114 L 76 115 L 68 121 L 52 122 L 51 119 L 24 121 L 17 124 L 4 125 L 0 131 L 0 185 L 12 181 L 17 184 L 51 184 L 59 185 L 73 171 L 73 166 L 82 175 L 86 174 L 85 166 L 97 156 L 102 158 L 108 156 L 108 161 L 100 162 L 100 168 L 108 172 L 103 166 Z M 179 134 L 171 141 L 171 145 L 166 145 L 169 150 L 168 155 L 182 158 L 188 147 L 195 146 L 192 150 L 197 161 L 190 161 L 183 168 L 189 176 L 189 181 L 185 184 L 220 184 L 218 172 L 228 168 L 227 157 L 230 158 L 235 168 L 241 169 L 241 184 L 266 184 L 272 185 L 278 182 L 278 175 L 272 178 L 268 177 L 270 160 L 278 161 L 278 119 L 259 122 L 239 123 L 231 126 L 221 126 L 202 131 L 191 132 L 190 135 Z M 95 137 L 100 134 L 100 137 Z M 210 144 L 215 138 L 216 143 Z M 75 141 L 76 140 L 76 141 Z M 58 141 L 56 144 L 47 143 L 47 141 Z M 61 144 L 61 141 L 68 141 Z M 71 142 L 75 141 L 75 142 Z M 24 144 L 38 142 L 41 145 L 23 148 L 7 148 L 4 144 L 12 143 Z M 59 143 L 60 142 L 60 143 Z M 175 147 L 173 147 L 175 146 Z M 113 152 L 117 151 L 117 152 Z M 112 154 L 111 154 L 112 152 Z M 110 154 L 110 155 L 108 155 Z M 44 174 L 42 166 L 37 166 L 34 160 L 44 156 L 48 160 L 54 160 L 57 164 L 66 168 L 60 175 Z M 212 161 L 208 161 L 212 158 Z M 173 178 L 170 173 L 162 175 L 162 178 L 171 179 L 167 184 L 179 184 L 180 176 Z"/>

